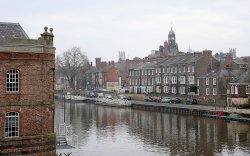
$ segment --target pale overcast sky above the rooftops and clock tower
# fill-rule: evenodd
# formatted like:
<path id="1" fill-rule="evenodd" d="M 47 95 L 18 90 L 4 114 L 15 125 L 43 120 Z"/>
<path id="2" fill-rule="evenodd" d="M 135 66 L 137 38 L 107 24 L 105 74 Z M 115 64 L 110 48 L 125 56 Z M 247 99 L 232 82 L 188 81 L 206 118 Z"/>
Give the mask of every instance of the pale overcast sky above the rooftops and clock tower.
<path id="1" fill-rule="evenodd" d="M 179 50 L 250 55 L 250 0 L 0 0 L 1 22 L 20 23 L 30 38 L 53 27 L 56 53 L 79 46 L 91 61 L 144 57 L 167 40 Z"/>

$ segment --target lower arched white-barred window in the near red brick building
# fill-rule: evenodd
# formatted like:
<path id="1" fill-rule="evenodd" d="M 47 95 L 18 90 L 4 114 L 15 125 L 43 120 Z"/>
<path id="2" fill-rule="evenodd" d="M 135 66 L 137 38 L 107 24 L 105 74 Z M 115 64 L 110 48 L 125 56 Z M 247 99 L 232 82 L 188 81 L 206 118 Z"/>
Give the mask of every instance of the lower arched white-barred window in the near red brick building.
<path id="1" fill-rule="evenodd" d="M 19 136 L 19 113 L 8 112 L 5 114 L 5 137 L 18 137 Z"/>

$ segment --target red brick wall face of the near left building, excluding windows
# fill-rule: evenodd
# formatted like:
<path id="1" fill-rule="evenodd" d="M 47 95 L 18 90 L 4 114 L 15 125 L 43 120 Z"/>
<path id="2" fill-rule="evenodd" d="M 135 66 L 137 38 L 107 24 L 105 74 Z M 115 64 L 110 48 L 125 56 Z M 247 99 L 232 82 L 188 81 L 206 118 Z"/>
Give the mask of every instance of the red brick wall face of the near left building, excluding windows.
<path id="1" fill-rule="evenodd" d="M 55 154 L 53 53 L 0 52 L 0 155 Z M 6 73 L 19 71 L 19 91 L 6 91 Z M 5 114 L 19 113 L 19 136 L 5 138 Z"/>

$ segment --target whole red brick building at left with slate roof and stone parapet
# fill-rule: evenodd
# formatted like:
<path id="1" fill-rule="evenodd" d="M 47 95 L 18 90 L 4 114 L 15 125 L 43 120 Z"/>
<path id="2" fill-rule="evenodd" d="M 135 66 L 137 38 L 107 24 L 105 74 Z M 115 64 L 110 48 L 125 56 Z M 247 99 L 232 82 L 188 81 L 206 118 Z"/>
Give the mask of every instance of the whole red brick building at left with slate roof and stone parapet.
<path id="1" fill-rule="evenodd" d="M 55 155 L 52 30 L 29 39 L 0 23 L 0 155 Z"/>

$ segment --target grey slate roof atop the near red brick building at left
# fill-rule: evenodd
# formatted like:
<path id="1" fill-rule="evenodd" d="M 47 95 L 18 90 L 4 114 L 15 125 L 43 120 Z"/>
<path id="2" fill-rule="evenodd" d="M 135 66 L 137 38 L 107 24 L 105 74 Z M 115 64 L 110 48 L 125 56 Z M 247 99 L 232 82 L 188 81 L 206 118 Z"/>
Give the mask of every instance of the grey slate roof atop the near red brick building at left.
<path id="1" fill-rule="evenodd" d="M 0 22 L 0 39 L 1 38 L 29 39 L 19 23 L 7 22 Z"/>

